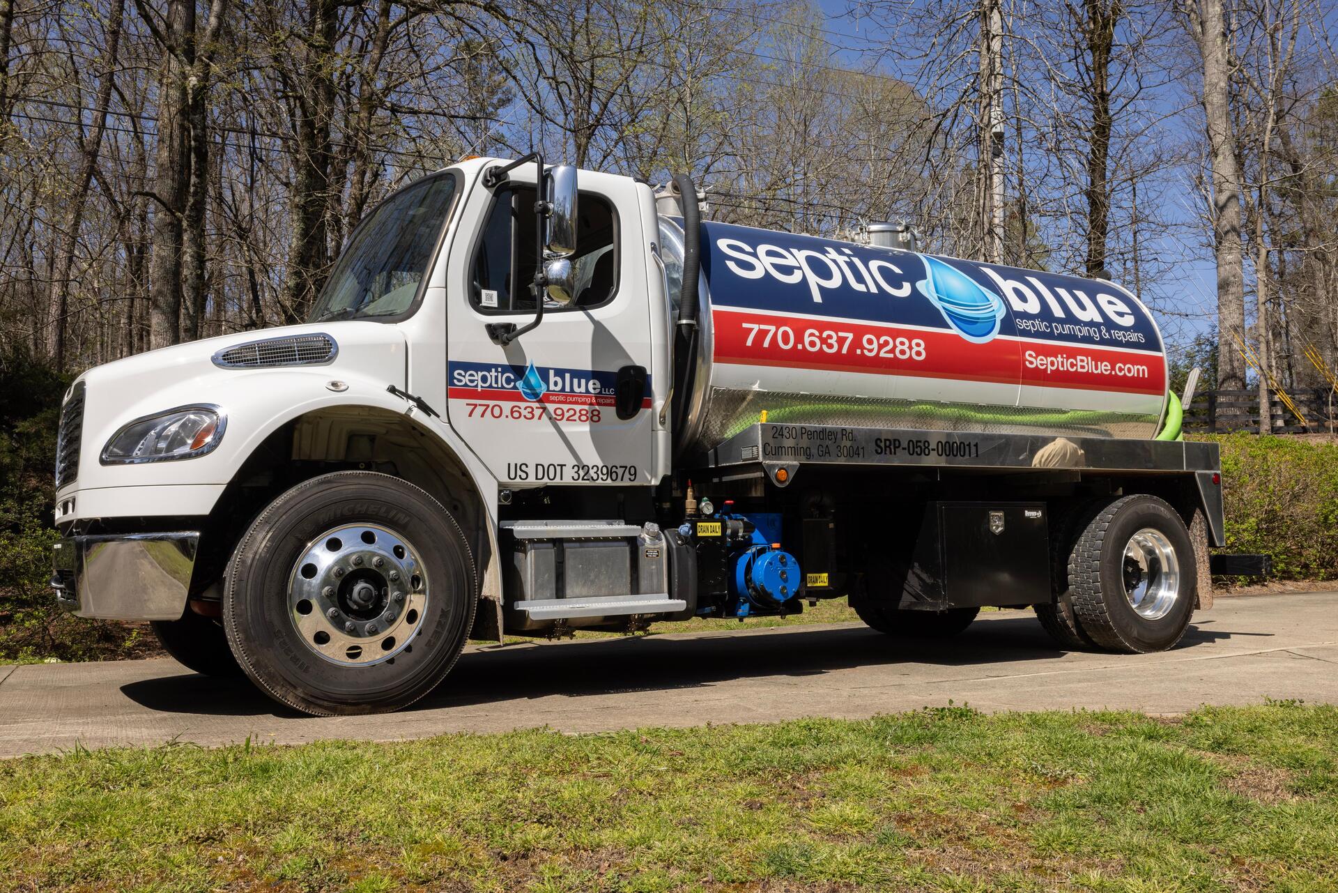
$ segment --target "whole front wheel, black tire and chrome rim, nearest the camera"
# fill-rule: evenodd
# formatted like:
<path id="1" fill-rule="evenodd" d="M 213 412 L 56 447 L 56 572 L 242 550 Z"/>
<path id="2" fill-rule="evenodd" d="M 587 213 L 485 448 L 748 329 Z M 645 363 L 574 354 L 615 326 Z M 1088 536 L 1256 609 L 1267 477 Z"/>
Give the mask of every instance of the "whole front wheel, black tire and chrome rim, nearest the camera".
<path id="1" fill-rule="evenodd" d="M 450 672 L 474 621 L 474 560 L 419 487 L 339 471 L 278 497 L 233 553 L 223 628 L 272 698 L 314 715 L 399 710 Z"/>

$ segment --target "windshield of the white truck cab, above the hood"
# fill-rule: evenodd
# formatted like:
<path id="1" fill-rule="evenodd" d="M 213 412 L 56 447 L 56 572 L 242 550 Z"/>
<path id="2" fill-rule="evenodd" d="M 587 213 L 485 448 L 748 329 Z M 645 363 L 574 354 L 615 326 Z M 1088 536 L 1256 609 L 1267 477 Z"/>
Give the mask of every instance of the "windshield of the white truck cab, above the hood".
<path id="1" fill-rule="evenodd" d="M 404 315 L 432 262 L 454 195 L 455 177 L 427 177 L 372 212 L 336 261 L 308 321 Z"/>

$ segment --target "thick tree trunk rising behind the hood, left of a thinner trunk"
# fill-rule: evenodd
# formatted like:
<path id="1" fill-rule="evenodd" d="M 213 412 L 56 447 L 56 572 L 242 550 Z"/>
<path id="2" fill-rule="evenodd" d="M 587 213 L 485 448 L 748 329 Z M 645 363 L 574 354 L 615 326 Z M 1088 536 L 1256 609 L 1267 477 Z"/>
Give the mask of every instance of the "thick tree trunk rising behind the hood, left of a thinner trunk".
<path id="1" fill-rule="evenodd" d="M 140 12 L 145 9 L 140 8 Z M 154 224 L 149 261 L 149 343 L 154 348 L 181 341 L 182 228 L 190 190 L 187 82 L 194 33 L 194 0 L 167 0 L 158 78 L 158 151 L 154 163 Z"/>

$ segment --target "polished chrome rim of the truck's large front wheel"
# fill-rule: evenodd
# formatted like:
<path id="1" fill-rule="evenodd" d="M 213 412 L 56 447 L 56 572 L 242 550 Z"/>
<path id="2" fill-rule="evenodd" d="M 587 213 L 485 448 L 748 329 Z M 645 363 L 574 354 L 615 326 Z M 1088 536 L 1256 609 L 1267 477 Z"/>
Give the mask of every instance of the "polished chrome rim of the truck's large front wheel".
<path id="1" fill-rule="evenodd" d="M 343 667 L 380 664 L 412 648 L 427 601 L 419 552 L 371 523 L 312 540 L 288 584 L 288 613 L 302 643 Z"/>

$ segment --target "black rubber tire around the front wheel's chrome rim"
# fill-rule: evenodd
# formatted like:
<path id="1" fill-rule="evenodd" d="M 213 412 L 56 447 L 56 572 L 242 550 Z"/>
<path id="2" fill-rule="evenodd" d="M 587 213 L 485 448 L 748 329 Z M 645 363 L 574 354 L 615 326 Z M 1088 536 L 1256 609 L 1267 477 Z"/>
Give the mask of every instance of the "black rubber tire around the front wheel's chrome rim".
<path id="1" fill-rule="evenodd" d="M 318 548 L 324 534 L 357 525 L 395 532 L 412 545 L 416 554 L 408 560 L 421 569 L 423 601 L 421 613 L 405 611 L 404 602 L 397 605 L 397 643 L 387 637 L 384 641 L 392 645 L 384 645 L 376 636 L 360 640 L 368 643 L 369 657 L 376 647 L 395 651 L 376 656 L 379 663 L 353 665 L 308 644 L 306 635 L 298 631 L 289 588 L 296 590 L 297 562 Z M 336 557 L 329 566 L 339 564 L 341 558 Z M 357 573 L 369 568 L 371 561 Z M 301 572 L 305 576 L 306 565 Z M 353 576 L 348 573 L 348 580 Z M 393 589 L 409 588 L 408 582 L 381 582 L 385 598 Z M 411 593 L 408 604 L 412 598 Z M 339 471 L 294 486 L 252 523 L 227 565 L 223 628 L 242 669 L 276 700 L 313 715 L 388 712 L 412 704 L 446 677 L 464 648 L 476 602 L 478 580 L 468 544 L 436 499 L 391 475 Z M 296 611 L 301 611 L 300 605 Z M 392 605 L 384 605 L 389 617 Z M 380 620 L 379 611 L 373 606 L 372 615 L 361 620 Z M 304 613 L 312 615 L 312 605 Z M 371 623 L 367 627 L 376 631 Z M 329 640 L 326 635 L 322 644 Z"/>

